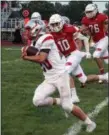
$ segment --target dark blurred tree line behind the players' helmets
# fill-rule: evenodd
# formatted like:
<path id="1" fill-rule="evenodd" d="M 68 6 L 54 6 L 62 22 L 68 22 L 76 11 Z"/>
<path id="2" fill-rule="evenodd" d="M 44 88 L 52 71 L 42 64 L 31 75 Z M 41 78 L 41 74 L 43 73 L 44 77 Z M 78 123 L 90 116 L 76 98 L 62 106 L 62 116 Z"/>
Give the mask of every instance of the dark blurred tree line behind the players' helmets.
<path id="1" fill-rule="evenodd" d="M 39 12 L 43 20 L 49 20 L 49 17 L 54 13 L 67 16 L 71 23 L 80 22 L 84 15 L 84 9 L 87 4 L 92 3 L 88 1 L 70 1 L 70 2 L 48 2 L 48 1 L 31 1 L 23 4 L 23 8 L 28 8 L 31 12 Z M 30 14 L 30 15 L 31 15 Z"/>

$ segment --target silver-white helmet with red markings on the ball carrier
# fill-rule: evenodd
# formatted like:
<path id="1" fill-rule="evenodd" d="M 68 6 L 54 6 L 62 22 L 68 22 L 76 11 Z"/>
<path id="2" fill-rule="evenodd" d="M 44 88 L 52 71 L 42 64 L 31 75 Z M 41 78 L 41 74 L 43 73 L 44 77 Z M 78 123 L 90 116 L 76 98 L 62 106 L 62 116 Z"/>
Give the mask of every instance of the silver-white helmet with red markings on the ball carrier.
<path id="1" fill-rule="evenodd" d="M 39 35 L 45 34 L 45 28 L 44 25 L 41 25 L 39 23 L 36 23 L 32 20 L 28 21 L 28 23 L 25 25 L 25 29 L 28 30 L 28 38 L 34 39 L 37 38 Z"/>

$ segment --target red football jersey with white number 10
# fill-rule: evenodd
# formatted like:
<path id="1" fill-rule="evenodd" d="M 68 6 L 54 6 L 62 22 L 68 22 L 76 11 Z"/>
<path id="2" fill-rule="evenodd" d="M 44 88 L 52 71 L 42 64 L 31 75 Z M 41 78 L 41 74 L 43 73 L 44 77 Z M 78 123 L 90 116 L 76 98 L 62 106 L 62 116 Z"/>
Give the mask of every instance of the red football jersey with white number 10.
<path id="1" fill-rule="evenodd" d="M 64 56 L 68 56 L 76 50 L 76 43 L 73 40 L 73 34 L 77 32 L 73 25 L 65 24 L 61 32 L 52 32 L 56 45 Z"/>

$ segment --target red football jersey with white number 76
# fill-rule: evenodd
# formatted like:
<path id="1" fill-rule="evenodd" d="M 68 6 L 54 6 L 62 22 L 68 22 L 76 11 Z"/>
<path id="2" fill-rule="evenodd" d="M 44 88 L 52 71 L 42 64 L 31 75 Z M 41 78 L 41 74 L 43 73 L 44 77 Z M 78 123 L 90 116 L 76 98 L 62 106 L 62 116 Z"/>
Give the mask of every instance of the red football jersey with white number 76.
<path id="1" fill-rule="evenodd" d="M 88 19 L 86 16 L 82 18 L 82 24 L 88 26 L 95 43 L 106 36 L 104 31 L 104 21 L 106 19 L 108 19 L 108 16 L 102 13 L 98 13 L 95 18 Z"/>

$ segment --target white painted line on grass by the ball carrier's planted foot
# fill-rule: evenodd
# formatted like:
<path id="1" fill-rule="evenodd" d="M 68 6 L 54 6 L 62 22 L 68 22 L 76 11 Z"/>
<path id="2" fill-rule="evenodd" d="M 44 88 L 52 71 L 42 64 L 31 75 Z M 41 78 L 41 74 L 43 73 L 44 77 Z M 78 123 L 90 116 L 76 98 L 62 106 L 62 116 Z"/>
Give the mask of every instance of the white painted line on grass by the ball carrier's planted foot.
<path id="1" fill-rule="evenodd" d="M 103 110 L 103 108 L 107 105 L 108 105 L 108 97 L 106 97 L 101 103 L 99 103 L 97 106 L 95 106 L 95 109 L 91 113 L 88 113 L 88 116 L 90 118 L 96 117 Z M 81 122 L 81 121 L 76 122 L 63 135 L 78 135 L 78 133 L 81 131 L 82 125 L 83 125 L 83 122 Z"/>

